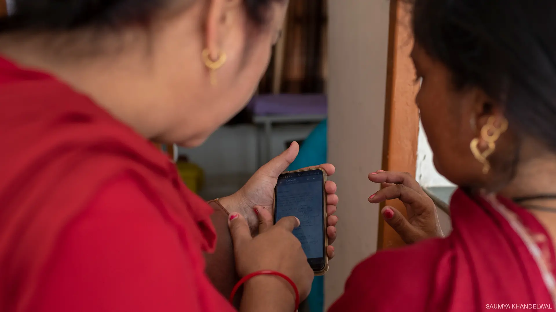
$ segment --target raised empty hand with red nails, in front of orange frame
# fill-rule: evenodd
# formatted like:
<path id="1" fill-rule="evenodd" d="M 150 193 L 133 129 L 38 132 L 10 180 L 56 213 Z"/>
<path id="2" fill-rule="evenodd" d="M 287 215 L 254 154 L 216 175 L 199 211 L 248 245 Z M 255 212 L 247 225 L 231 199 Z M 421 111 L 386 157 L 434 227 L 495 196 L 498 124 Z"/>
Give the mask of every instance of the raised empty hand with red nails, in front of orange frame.
<path id="1" fill-rule="evenodd" d="M 406 244 L 444 236 L 433 200 L 409 173 L 378 170 L 369 174 L 369 180 L 380 183 L 382 187 L 369 197 L 370 203 L 381 203 L 387 199 L 399 199 L 404 203 L 408 218 L 390 206 L 384 207 L 381 214 Z"/>

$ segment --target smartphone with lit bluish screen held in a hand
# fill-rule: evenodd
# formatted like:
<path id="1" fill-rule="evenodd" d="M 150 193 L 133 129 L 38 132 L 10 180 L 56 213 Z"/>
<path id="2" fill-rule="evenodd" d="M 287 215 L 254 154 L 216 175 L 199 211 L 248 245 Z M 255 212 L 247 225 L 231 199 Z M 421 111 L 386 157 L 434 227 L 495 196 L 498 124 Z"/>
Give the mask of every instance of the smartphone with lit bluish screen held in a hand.
<path id="1" fill-rule="evenodd" d="M 325 182 L 324 170 L 301 169 L 280 174 L 274 190 L 274 222 L 290 215 L 300 220 L 294 235 L 315 275 L 328 270 Z"/>

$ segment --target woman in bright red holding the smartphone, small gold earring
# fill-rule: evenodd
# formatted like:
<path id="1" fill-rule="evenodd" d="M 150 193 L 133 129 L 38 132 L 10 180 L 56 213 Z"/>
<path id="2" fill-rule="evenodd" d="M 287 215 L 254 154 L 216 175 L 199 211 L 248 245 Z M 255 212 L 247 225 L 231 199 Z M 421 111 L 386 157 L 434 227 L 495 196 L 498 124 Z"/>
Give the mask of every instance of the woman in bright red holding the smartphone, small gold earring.
<path id="1" fill-rule="evenodd" d="M 149 142 L 197 146 L 244 107 L 287 1 L 13 2 L 0 17 L 0 311 L 235 311 L 236 269 L 278 271 L 305 298 L 299 220 L 270 218 L 299 146 L 209 205 Z M 237 298 L 240 311 L 291 312 L 294 295 L 266 275 Z"/>

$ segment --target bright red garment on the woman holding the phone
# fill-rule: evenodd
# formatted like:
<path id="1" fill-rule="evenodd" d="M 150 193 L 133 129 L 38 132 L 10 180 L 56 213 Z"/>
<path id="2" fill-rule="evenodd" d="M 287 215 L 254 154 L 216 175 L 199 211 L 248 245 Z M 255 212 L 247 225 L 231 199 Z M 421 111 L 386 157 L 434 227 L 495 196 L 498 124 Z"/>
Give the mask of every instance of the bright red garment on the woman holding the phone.
<path id="1" fill-rule="evenodd" d="M 212 209 L 151 143 L 1 58 L 0 133 L 0 311 L 234 311 Z"/>

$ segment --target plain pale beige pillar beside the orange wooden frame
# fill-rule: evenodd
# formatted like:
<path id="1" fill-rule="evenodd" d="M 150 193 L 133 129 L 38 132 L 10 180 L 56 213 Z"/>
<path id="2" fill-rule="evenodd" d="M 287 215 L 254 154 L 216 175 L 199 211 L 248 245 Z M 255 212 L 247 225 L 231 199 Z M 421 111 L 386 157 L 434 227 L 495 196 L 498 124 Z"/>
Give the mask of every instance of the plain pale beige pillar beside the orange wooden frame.
<path id="1" fill-rule="evenodd" d="M 387 0 L 329 0 L 329 162 L 340 197 L 336 258 L 325 276 L 325 306 L 344 290 L 351 269 L 376 251 L 379 189 L 367 175 L 381 168 L 389 14 Z"/>

